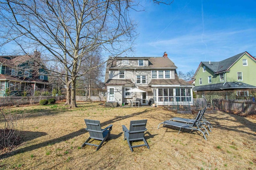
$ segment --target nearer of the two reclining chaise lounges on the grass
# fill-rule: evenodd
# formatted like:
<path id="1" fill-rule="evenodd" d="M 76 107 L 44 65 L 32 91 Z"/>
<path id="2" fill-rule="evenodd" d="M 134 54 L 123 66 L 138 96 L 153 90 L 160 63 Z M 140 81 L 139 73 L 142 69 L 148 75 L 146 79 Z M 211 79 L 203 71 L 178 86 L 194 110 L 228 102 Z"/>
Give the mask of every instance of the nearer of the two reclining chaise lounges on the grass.
<path id="1" fill-rule="evenodd" d="M 190 130 L 200 131 L 200 133 L 203 134 L 204 139 L 207 141 L 205 134 L 207 134 L 209 136 L 209 133 L 208 133 L 207 129 L 204 126 L 202 126 L 202 123 L 199 121 L 199 116 L 200 116 L 200 114 L 198 114 L 196 116 L 196 119 L 194 120 L 194 123 L 192 123 L 192 124 L 166 120 L 166 121 L 163 121 L 162 123 L 159 123 L 157 129 L 159 129 L 159 126 L 161 124 L 163 124 L 163 127 L 164 127 L 164 125 L 169 125 L 169 126 L 173 126 L 173 127 L 179 127 L 180 130 L 181 129 L 183 129 L 183 130 L 190 129 Z M 204 131 L 202 131 L 202 129 Z M 180 130 L 179 130 L 178 134 L 180 134 Z"/>

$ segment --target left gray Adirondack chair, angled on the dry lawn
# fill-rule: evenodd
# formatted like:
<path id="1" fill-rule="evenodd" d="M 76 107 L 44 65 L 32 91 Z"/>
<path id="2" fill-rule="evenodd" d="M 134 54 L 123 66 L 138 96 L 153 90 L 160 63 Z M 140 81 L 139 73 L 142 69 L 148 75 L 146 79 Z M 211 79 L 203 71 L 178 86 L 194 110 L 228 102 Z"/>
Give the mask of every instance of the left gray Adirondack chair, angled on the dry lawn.
<path id="1" fill-rule="evenodd" d="M 84 119 L 84 122 L 87 126 L 85 130 L 89 132 L 90 137 L 84 142 L 82 147 L 84 147 L 85 145 L 91 145 L 97 147 L 96 150 L 100 149 L 104 141 L 106 141 L 107 138 L 110 139 L 110 131 L 112 130 L 112 125 L 109 125 L 105 129 L 101 129 L 100 121 L 98 120 Z M 90 139 L 96 139 L 101 142 L 99 145 L 88 143 Z"/>

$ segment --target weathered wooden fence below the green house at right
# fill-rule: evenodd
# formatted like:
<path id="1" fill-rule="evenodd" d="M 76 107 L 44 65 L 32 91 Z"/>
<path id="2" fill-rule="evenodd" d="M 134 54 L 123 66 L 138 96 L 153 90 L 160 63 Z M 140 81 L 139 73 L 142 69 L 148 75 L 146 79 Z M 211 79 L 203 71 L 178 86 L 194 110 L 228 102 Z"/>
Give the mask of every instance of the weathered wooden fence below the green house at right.
<path id="1" fill-rule="evenodd" d="M 256 102 L 252 100 L 212 100 L 212 107 L 228 112 L 256 114 Z"/>

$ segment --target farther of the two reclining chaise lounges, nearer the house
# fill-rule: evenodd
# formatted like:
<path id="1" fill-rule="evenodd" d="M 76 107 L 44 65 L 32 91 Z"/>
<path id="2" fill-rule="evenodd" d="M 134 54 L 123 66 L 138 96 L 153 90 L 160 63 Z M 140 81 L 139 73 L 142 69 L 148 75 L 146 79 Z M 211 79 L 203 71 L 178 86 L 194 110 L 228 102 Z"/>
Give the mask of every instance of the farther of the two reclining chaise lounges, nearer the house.
<path id="1" fill-rule="evenodd" d="M 198 112 L 199 118 L 198 120 L 205 126 L 208 127 L 209 131 L 212 132 L 212 125 L 210 122 L 206 121 L 205 117 L 204 117 L 204 112 L 206 111 L 206 107 L 204 107 L 202 110 L 200 110 Z M 186 118 L 182 118 L 182 117 L 173 117 L 172 119 L 170 119 L 170 121 L 178 121 L 178 122 L 182 122 L 182 123 L 194 123 L 196 117 L 194 119 L 186 119 Z"/>

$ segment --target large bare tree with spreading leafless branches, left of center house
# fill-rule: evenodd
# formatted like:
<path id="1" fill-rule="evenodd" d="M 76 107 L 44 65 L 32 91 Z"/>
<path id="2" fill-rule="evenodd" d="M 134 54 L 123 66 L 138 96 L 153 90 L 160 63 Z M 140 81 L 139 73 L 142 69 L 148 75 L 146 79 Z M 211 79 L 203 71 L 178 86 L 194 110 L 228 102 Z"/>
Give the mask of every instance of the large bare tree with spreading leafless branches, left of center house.
<path id="1" fill-rule="evenodd" d="M 81 64 L 96 49 L 118 56 L 131 49 L 135 37 L 130 0 L 2 0 L 1 45 L 15 42 L 22 50 L 41 48 L 47 61 L 64 72 L 70 107 L 76 107 L 76 80 Z M 98 66 L 104 63 L 100 63 Z M 71 90 L 70 87 L 71 86 Z M 69 90 L 71 93 L 69 93 Z"/>

